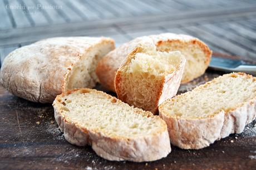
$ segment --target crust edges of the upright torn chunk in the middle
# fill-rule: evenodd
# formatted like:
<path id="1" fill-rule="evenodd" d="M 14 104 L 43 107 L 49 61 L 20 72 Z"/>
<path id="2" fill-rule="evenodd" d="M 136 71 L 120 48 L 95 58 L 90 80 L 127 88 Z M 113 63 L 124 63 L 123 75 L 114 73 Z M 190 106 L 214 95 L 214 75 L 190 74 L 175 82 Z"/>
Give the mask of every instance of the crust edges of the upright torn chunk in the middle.
<path id="1" fill-rule="evenodd" d="M 136 53 L 140 53 L 144 50 L 143 44 L 139 44 L 135 49 L 128 54 L 126 61 L 122 66 L 117 70 L 115 76 L 115 90 L 117 97 L 121 99 L 121 101 L 130 104 L 131 106 L 142 108 L 146 111 L 150 111 L 153 114 L 158 112 L 158 106 L 163 103 L 166 99 L 172 98 L 178 92 L 178 88 L 180 86 L 180 81 L 184 72 L 185 62 L 186 59 L 180 57 L 181 61 L 178 66 L 176 66 L 175 71 L 170 71 L 166 76 L 163 76 L 161 79 L 160 84 L 155 84 L 155 92 L 157 96 L 155 96 L 154 103 L 151 103 L 152 109 L 144 108 L 143 105 L 137 106 L 135 103 L 130 103 L 129 100 L 126 98 L 126 95 L 121 91 L 120 84 L 122 83 L 122 71 L 123 69 L 131 62 L 131 60 L 135 57 Z M 134 84 L 136 86 L 136 84 Z M 140 87 L 144 88 L 144 87 Z"/>

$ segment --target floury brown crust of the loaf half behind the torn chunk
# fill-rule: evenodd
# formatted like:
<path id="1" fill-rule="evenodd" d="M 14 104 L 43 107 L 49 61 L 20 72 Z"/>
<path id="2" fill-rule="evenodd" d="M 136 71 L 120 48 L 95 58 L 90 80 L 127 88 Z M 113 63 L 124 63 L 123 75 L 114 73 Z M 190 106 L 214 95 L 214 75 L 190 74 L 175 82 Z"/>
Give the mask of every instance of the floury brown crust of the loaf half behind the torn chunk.
<path id="1" fill-rule="evenodd" d="M 180 42 L 184 45 L 186 44 L 198 44 L 202 51 L 205 53 L 205 66 L 203 69 L 203 74 L 205 69 L 209 66 L 211 51 L 208 46 L 198 38 L 191 37 L 184 34 L 173 34 L 173 33 L 163 33 L 159 35 L 152 36 L 144 36 L 138 37 L 134 40 L 122 44 L 120 47 L 116 48 L 114 51 L 109 52 L 105 57 L 101 59 L 96 68 L 96 74 L 100 80 L 102 86 L 108 90 L 115 92 L 115 76 L 117 70 L 122 66 L 122 64 L 126 61 L 127 56 L 138 46 L 140 43 L 152 42 L 156 46 L 157 49 L 164 43 L 173 43 Z M 199 76 L 201 76 L 198 75 Z M 191 77 L 190 79 L 183 79 L 181 83 L 186 83 L 191 81 L 196 77 Z"/>

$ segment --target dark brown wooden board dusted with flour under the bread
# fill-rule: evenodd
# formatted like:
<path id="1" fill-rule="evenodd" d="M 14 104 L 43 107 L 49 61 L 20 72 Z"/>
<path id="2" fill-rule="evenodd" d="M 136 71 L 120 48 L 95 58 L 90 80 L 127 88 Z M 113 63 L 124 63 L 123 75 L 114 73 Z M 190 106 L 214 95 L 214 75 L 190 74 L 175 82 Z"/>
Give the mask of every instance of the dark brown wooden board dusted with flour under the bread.
<path id="1" fill-rule="evenodd" d="M 220 74 L 207 71 L 181 86 L 179 93 Z M 90 146 L 66 142 L 53 113 L 51 104 L 28 102 L 0 87 L 0 169 L 256 169 L 256 121 L 243 133 L 232 134 L 207 148 L 183 150 L 171 146 L 166 158 L 135 163 L 106 161 Z"/>

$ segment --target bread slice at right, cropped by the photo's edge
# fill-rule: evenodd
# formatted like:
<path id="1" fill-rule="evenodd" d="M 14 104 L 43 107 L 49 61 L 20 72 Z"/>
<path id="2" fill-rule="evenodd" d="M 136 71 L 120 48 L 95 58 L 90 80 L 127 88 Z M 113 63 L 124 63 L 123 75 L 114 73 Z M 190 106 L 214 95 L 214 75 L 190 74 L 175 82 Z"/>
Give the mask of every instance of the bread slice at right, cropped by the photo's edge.
<path id="1" fill-rule="evenodd" d="M 241 133 L 256 117 L 256 78 L 224 74 L 159 107 L 170 141 L 183 149 L 209 146 L 231 133 Z"/>

